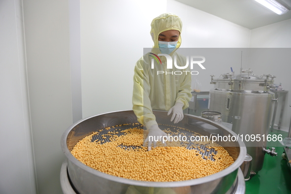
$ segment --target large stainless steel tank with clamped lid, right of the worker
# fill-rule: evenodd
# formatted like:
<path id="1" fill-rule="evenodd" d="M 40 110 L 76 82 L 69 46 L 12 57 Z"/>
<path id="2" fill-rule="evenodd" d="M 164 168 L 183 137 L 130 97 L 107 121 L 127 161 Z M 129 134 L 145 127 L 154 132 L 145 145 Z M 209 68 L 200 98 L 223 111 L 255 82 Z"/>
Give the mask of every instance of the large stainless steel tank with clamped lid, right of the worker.
<path id="1" fill-rule="evenodd" d="M 252 171 L 261 170 L 266 153 L 266 138 L 272 113 L 273 87 L 275 76 L 257 76 L 252 70 L 241 70 L 240 74 L 226 73 L 210 90 L 209 110 L 222 113 L 222 121 L 231 124 L 230 128 L 245 142 L 247 153 L 252 156 Z M 255 140 L 254 140 L 255 139 Z M 264 141 L 263 141 L 264 139 Z M 254 141 L 253 141 L 254 140 Z M 269 151 L 269 150 L 267 150 Z M 269 151 L 270 155 L 275 155 Z"/>

